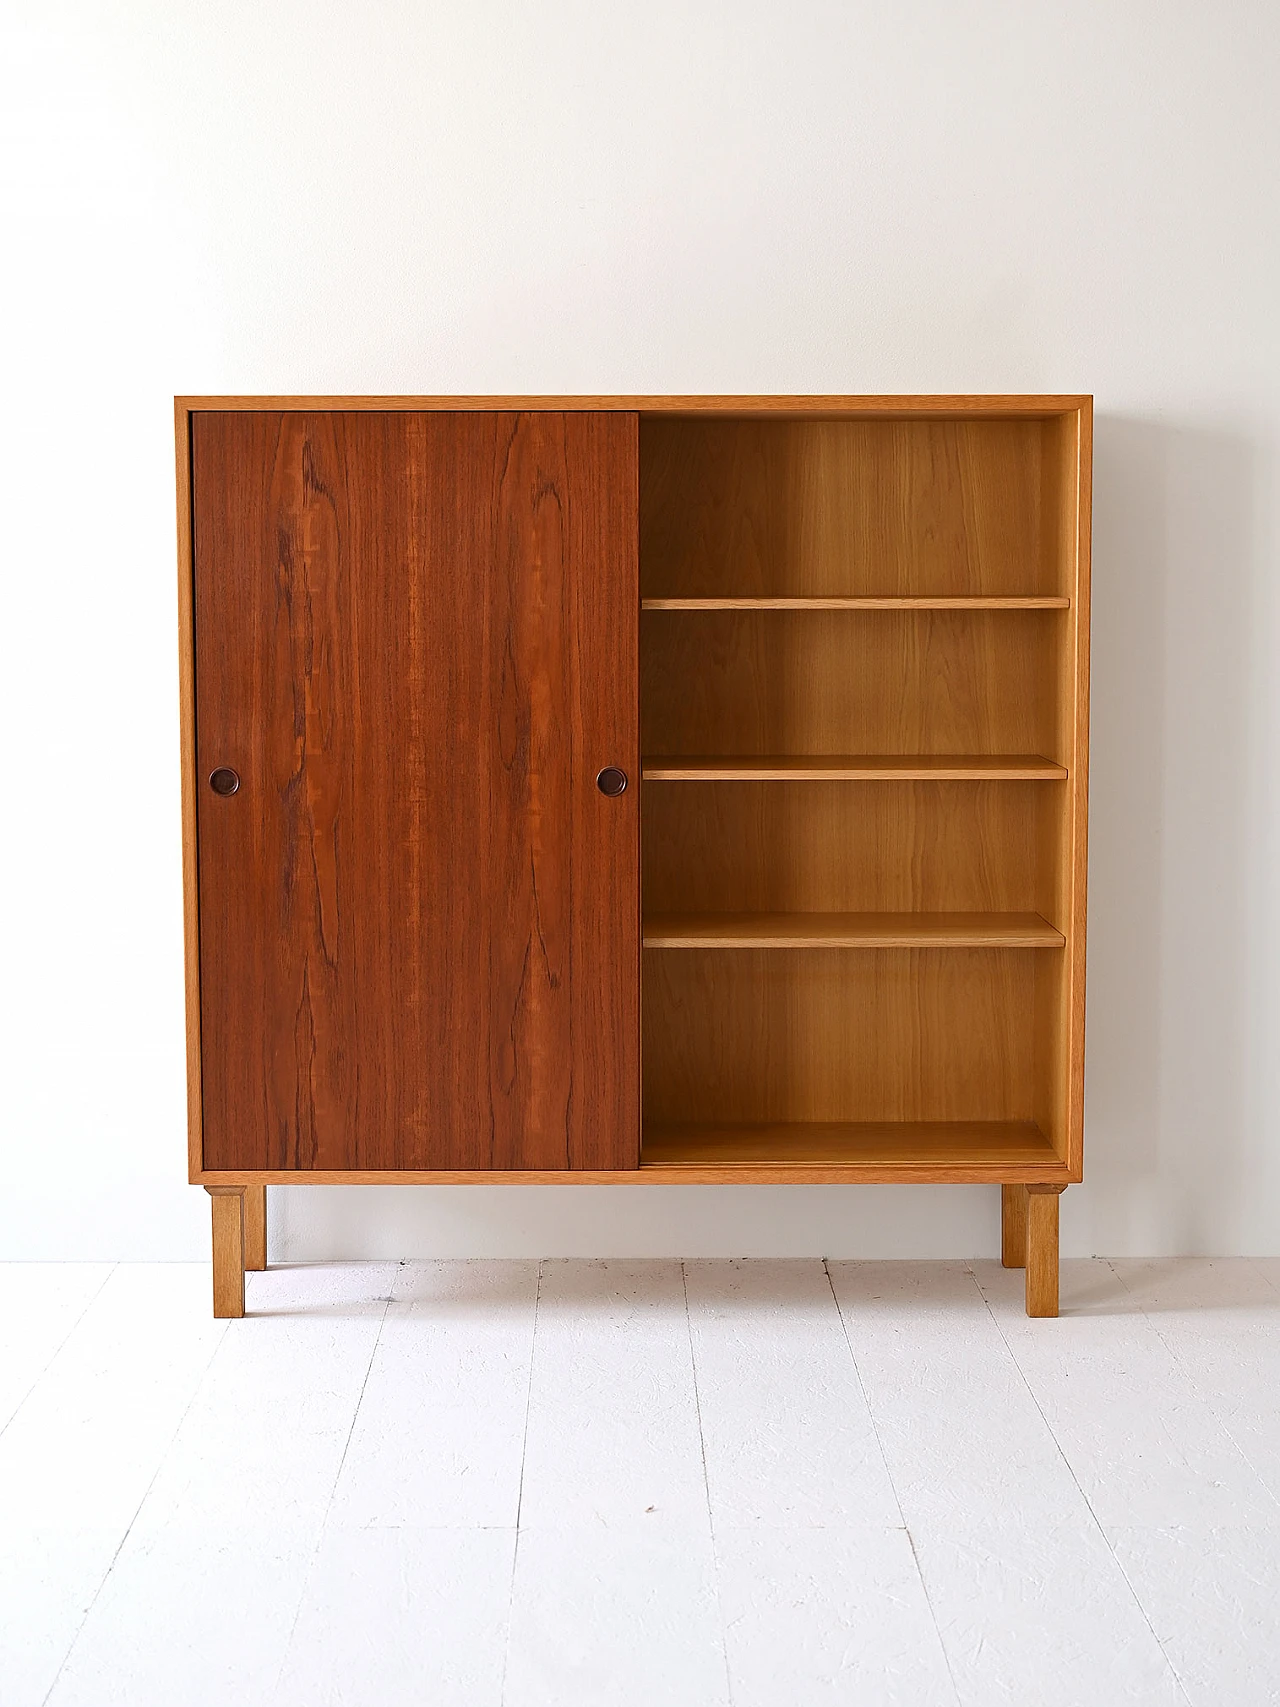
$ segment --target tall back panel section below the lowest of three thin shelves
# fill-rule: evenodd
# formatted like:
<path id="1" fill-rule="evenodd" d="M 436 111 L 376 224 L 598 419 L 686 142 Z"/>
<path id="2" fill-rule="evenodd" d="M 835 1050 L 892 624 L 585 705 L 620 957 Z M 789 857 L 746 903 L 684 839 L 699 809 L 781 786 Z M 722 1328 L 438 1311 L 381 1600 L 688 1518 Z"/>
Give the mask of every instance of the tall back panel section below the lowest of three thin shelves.
<path id="1" fill-rule="evenodd" d="M 1051 954 L 647 949 L 645 1120 L 1033 1120 Z"/>

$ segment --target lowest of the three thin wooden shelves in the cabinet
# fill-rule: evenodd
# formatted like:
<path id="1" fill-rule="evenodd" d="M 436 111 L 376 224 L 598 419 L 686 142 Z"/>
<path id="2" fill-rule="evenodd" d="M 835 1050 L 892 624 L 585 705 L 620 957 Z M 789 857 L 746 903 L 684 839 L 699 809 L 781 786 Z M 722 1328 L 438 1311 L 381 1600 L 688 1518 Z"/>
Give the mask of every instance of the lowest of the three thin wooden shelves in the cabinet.
<path id="1" fill-rule="evenodd" d="M 647 949 L 1060 949 L 1039 913 L 657 913 Z"/>

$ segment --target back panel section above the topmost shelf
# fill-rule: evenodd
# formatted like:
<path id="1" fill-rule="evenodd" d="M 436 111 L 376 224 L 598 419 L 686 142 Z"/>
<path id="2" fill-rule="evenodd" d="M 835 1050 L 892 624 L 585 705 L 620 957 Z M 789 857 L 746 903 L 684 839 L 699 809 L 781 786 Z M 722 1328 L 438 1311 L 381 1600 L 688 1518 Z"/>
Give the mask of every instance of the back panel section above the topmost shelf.
<path id="1" fill-rule="evenodd" d="M 643 592 L 1070 592 L 1056 432 L 1009 418 L 645 418 Z"/>

